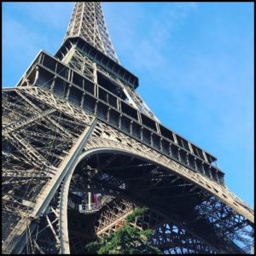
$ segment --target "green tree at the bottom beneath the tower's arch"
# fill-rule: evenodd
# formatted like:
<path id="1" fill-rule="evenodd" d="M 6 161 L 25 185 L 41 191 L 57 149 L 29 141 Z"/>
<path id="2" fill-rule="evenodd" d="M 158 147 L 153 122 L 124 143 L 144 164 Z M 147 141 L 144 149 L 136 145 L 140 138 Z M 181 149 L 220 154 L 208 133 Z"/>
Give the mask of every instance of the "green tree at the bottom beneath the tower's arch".
<path id="1" fill-rule="evenodd" d="M 160 249 L 148 243 L 148 238 L 154 230 L 139 230 L 130 225 L 147 210 L 146 207 L 135 208 L 119 230 L 109 236 L 103 236 L 102 241 L 90 242 L 86 246 L 87 250 L 95 254 L 162 254 Z"/>

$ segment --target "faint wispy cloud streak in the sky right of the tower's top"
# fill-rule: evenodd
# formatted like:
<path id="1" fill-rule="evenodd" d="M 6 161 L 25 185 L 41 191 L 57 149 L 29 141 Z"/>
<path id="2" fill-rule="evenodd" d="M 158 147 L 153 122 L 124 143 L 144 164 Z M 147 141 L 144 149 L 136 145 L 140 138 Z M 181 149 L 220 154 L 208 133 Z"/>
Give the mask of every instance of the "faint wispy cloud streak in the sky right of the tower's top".
<path id="1" fill-rule="evenodd" d="M 165 64 L 164 52 L 172 40 L 172 33 L 180 29 L 191 11 L 196 9 L 195 3 L 169 3 L 161 9 L 156 19 L 151 19 L 148 33 L 137 44 L 132 56 L 138 68 L 154 70 Z"/>

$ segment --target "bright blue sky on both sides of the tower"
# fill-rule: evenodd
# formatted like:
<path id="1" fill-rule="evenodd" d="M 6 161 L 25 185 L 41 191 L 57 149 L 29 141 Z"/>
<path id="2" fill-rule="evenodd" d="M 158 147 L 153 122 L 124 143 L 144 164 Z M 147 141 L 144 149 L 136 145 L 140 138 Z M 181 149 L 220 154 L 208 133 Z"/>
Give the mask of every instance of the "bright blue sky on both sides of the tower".
<path id="1" fill-rule="evenodd" d="M 218 158 L 253 207 L 253 3 L 103 3 L 121 64 L 158 119 Z M 60 47 L 73 3 L 3 3 L 3 87 Z"/>

